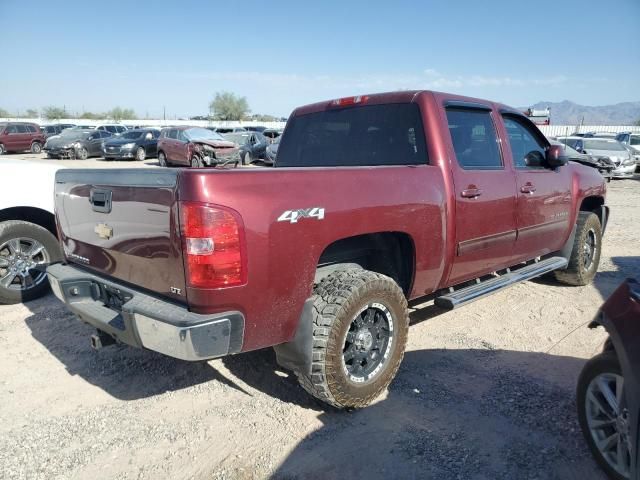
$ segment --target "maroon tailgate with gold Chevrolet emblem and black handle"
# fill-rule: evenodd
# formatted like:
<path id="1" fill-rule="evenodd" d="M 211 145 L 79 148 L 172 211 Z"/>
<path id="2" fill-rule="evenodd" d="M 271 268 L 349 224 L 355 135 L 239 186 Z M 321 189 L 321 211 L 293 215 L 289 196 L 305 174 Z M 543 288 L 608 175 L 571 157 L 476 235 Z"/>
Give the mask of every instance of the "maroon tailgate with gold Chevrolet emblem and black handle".
<path id="1" fill-rule="evenodd" d="M 61 170 L 56 220 L 69 263 L 185 302 L 178 170 Z"/>

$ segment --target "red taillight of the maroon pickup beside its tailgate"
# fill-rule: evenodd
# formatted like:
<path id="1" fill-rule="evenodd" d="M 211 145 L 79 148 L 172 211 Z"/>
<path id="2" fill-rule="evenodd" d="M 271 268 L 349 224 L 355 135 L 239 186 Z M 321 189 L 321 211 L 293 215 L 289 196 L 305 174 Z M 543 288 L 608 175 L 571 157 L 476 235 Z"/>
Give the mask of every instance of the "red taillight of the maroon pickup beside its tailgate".
<path id="1" fill-rule="evenodd" d="M 224 288 L 246 283 L 244 229 L 238 213 L 180 202 L 180 229 L 189 286 Z"/>

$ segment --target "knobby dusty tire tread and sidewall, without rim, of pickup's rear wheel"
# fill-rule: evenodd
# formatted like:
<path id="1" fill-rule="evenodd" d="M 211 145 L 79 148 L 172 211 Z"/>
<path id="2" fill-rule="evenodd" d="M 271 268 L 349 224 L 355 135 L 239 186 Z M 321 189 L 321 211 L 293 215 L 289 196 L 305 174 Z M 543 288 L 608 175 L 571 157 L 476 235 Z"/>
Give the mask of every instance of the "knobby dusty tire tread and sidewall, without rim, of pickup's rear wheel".
<path id="1" fill-rule="evenodd" d="M 296 372 L 311 395 L 336 408 L 365 407 L 395 377 L 404 356 L 409 329 L 407 300 L 391 278 L 361 268 L 334 272 L 316 285 L 313 302 L 311 375 Z M 393 318 L 391 350 L 382 368 L 363 383 L 344 372 L 345 336 L 354 317 L 373 302 L 384 305 Z"/>

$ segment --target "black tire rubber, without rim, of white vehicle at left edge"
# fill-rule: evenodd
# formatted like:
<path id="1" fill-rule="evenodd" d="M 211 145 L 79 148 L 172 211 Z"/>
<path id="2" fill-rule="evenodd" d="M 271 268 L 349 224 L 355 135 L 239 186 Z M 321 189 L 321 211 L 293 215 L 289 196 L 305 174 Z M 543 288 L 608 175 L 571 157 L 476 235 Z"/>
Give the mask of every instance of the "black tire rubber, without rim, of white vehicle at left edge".
<path id="1" fill-rule="evenodd" d="M 0 222 L 0 245 L 12 238 L 32 238 L 40 242 L 47 251 L 50 262 L 62 260 L 62 252 L 58 240 L 49 230 L 30 222 L 8 220 Z M 10 290 L 0 286 L 0 304 L 15 304 L 34 300 L 49 291 L 49 282 L 44 281 L 26 290 Z"/>

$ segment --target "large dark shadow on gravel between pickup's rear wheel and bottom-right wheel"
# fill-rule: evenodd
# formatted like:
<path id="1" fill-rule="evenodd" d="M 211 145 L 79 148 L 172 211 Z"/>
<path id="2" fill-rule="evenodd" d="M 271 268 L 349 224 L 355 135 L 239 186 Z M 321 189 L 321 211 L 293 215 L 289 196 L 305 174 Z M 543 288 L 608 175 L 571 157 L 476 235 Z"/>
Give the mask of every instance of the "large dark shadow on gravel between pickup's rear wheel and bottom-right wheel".
<path id="1" fill-rule="evenodd" d="M 576 418 L 583 364 L 502 350 L 407 352 L 386 398 L 353 412 L 324 408 L 322 427 L 271 478 L 602 480 Z M 270 395 L 281 381 L 243 380 Z"/>

